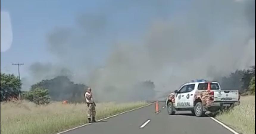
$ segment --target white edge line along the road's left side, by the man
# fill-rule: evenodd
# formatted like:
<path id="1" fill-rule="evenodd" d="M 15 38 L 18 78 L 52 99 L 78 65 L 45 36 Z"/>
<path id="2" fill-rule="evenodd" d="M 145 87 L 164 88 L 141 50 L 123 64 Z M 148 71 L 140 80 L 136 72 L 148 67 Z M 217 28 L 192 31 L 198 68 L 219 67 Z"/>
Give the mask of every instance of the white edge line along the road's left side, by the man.
<path id="1" fill-rule="evenodd" d="M 105 120 L 105 119 L 109 119 L 109 118 L 112 118 L 112 117 L 115 117 L 115 116 L 118 116 L 118 115 L 121 115 L 121 114 L 125 114 L 125 113 L 128 113 L 128 112 L 131 112 L 131 111 L 134 111 L 134 110 L 138 110 L 138 109 L 141 109 L 141 108 L 144 108 L 144 107 L 147 107 L 147 106 L 150 106 L 154 104 L 154 102 L 152 103 L 149 103 L 147 105 L 144 105 L 144 106 L 141 106 L 141 107 L 138 107 L 138 108 L 135 108 L 135 109 L 131 109 L 131 110 L 128 110 L 128 111 L 124 111 L 124 112 L 121 112 L 121 113 L 118 113 L 118 114 L 115 114 L 115 115 L 112 115 L 112 116 L 109 116 L 109 117 L 106 117 L 106 118 L 103 118 L 103 119 L 100 119 L 98 121 L 102 121 L 102 120 Z M 87 126 L 87 125 L 90 125 L 92 123 L 87 123 L 87 124 L 84 124 L 84 125 L 80 125 L 80 126 L 77 126 L 77 127 L 74 127 L 74 128 L 71 128 L 71 129 L 68 129 L 68 130 L 65 130 L 65 131 L 62 131 L 62 132 L 59 132 L 59 133 L 55 133 L 55 134 L 62 134 L 62 133 L 66 133 L 68 131 L 71 131 L 71 130 L 75 130 L 77 128 L 80 128 L 80 127 L 84 127 L 84 126 Z"/>

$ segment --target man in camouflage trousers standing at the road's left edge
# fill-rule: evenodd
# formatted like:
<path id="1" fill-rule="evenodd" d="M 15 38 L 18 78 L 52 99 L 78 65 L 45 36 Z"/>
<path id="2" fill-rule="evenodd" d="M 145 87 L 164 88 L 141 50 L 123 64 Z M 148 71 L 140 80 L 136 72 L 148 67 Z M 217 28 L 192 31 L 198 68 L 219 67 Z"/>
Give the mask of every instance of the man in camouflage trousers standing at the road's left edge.
<path id="1" fill-rule="evenodd" d="M 92 93 L 90 87 L 88 87 L 87 91 L 85 92 L 85 100 L 86 100 L 86 103 L 87 103 L 88 121 L 90 123 L 91 122 L 91 117 L 92 117 L 92 121 L 96 122 L 96 120 L 95 120 L 95 115 L 96 115 L 95 106 L 96 106 L 96 104 L 94 103 L 93 93 Z"/>

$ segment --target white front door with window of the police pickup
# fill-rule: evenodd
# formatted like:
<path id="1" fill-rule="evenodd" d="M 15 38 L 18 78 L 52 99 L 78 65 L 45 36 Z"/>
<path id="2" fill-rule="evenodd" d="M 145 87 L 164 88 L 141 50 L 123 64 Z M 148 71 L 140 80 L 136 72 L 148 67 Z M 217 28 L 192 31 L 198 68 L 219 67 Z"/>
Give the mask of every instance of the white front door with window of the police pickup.
<path id="1" fill-rule="evenodd" d="M 183 86 L 178 94 L 175 96 L 175 106 L 177 108 L 187 108 L 193 107 L 194 93 L 193 90 L 195 88 L 195 84 L 188 84 Z M 177 101 L 176 101 L 177 100 Z"/>

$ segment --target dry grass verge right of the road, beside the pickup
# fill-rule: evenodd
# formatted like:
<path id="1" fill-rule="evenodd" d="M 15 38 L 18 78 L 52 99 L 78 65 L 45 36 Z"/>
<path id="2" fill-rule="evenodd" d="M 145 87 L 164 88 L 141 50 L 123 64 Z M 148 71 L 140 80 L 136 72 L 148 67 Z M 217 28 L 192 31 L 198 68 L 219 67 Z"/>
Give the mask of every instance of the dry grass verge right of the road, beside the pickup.
<path id="1" fill-rule="evenodd" d="M 243 96 L 239 106 L 223 112 L 216 119 L 243 134 L 255 134 L 255 96 Z"/>

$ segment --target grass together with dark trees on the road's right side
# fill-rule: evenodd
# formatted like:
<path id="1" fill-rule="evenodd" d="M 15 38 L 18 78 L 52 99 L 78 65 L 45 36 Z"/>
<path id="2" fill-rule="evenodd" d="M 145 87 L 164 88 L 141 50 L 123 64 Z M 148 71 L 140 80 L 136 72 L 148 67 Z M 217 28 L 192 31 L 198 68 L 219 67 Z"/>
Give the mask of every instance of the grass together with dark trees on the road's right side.
<path id="1" fill-rule="evenodd" d="M 236 70 L 222 80 L 224 86 L 233 85 L 239 88 L 242 95 L 239 106 L 230 111 L 224 111 L 216 116 L 224 124 L 239 133 L 255 133 L 255 66 L 247 70 Z"/>

